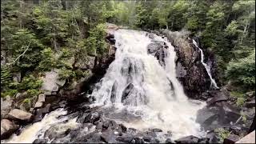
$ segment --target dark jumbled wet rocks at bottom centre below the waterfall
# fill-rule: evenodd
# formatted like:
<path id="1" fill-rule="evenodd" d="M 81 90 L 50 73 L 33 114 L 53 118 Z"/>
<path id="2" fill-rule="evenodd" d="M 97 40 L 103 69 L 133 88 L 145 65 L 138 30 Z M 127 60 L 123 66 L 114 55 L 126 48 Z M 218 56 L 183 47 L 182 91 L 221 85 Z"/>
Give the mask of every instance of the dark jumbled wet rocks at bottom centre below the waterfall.
<path id="1" fill-rule="evenodd" d="M 112 113 L 110 112 L 110 114 Z M 127 128 L 121 123 L 111 120 L 100 107 L 84 107 L 65 117 L 69 117 L 69 119 L 78 117 L 78 126 L 68 129 L 70 127 L 68 122 L 61 122 L 58 125 L 50 126 L 43 137 L 50 138 L 52 142 L 56 143 L 159 143 L 157 134 L 162 133 L 160 129 L 139 131 Z M 60 126 L 63 129 L 60 129 Z M 46 140 L 44 138 L 39 138 L 34 143 L 43 143 Z M 50 142 L 49 139 L 46 142 Z"/>

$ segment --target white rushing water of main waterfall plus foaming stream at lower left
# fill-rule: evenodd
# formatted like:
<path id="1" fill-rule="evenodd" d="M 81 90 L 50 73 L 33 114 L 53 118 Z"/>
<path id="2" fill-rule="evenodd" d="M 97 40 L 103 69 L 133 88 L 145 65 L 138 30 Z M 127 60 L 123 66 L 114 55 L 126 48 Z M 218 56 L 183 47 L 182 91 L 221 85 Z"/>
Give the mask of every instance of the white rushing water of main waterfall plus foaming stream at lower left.
<path id="1" fill-rule="evenodd" d="M 168 131 L 171 131 L 172 139 L 205 134 L 195 120 L 198 110 L 206 103 L 192 101 L 184 94 L 176 78 L 174 46 L 167 38 L 156 34 L 150 38 L 148 33 L 137 30 L 116 30 L 114 37 L 117 47 L 115 60 L 95 85 L 91 96 L 96 100 L 90 106 L 100 107 L 106 118 L 121 122 L 126 127 L 144 132 L 153 128 L 161 129 L 162 133 L 157 135 L 160 139 Z M 167 46 L 163 48 L 165 51 L 161 56 L 164 65 L 154 55 L 148 54 L 147 46 L 152 42 L 162 42 Z M 59 135 L 65 134 L 68 129 L 82 127 L 82 123 L 77 122 L 78 118 L 70 118 L 66 114 L 66 110 L 54 110 L 41 122 L 26 126 L 21 134 L 13 134 L 1 142 L 31 143 L 36 138 L 54 142 L 54 138 L 47 137 L 48 130 Z M 95 126 L 81 130 L 82 134 L 89 134 L 95 130 Z M 65 142 L 70 142 L 69 134 L 63 138 Z M 56 142 L 62 142 L 62 138 Z"/>

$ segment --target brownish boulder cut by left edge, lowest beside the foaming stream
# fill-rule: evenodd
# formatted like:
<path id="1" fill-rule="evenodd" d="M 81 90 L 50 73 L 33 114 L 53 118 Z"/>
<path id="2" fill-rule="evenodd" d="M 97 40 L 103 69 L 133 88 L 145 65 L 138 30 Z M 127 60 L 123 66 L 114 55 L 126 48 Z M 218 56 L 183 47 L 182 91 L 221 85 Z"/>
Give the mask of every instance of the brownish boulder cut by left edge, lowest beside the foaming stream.
<path id="1" fill-rule="evenodd" d="M 18 125 L 15 125 L 14 122 L 10 122 L 8 119 L 1 120 L 1 139 L 10 137 L 15 130 L 18 130 Z"/>

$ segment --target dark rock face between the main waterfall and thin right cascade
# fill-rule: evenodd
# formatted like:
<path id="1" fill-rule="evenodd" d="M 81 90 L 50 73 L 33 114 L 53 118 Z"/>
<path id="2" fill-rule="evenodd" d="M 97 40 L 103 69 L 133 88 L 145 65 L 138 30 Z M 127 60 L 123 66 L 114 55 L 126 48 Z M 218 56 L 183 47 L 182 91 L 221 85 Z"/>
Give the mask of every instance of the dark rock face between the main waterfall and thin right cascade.
<path id="1" fill-rule="evenodd" d="M 188 39 L 188 35 L 182 32 L 171 32 L 169 30 L 162 31 L 168 40 L 174 46 L 177 55 L 176 73 L 178 80 L 182 83 L 186 95 L 190 98 L 206 100 L 201 97 L 202 93 L 210 90 L 210 78 L 205 67 L 201 63 L 200 50 L 194 46 L 192 39 Z M 206 58 L 208 58 L 206 54 Z M 214 55 L 211 55 L 211 61 Z M 215 78 L 216 75 L 212 75 Z"/>

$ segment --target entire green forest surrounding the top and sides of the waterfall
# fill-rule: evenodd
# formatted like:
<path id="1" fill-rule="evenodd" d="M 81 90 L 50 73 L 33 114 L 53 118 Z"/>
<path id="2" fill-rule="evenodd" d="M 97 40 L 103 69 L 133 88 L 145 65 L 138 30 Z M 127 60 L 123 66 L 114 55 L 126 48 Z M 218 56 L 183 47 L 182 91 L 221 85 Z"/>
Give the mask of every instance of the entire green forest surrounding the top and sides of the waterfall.
<path id="1" fill-rule="evenodd" d="M 142 30 L 190 30 L 217 55 L 223 83 L 234 84 L 238 94 L 254 90 L 254 1 L 16 0 L 1 6 L 2 96 L 18 90 L 36 93 L 40 71 L 52 67 L 60 68 L 63 78 L 82 74 L 70 70 L 66 59 L 102 54 L 106 22 Z M 19 83 L 11 79 L 17 71 L 22 73 Z"/>

